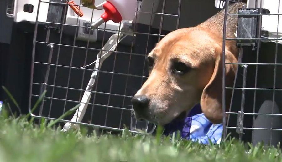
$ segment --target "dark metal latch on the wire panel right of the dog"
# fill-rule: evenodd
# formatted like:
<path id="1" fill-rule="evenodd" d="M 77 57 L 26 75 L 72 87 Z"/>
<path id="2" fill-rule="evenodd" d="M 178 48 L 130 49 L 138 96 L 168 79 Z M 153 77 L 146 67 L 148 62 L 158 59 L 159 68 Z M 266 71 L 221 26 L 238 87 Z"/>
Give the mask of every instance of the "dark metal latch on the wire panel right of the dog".
<path id="1" fill-rule="evenodd" d="M 270 13 L 264 8 L 239 8 L 238 9 L 238 24 L 237 24 L 237 39 L 238 47 L 252 47 L 255 50 L 258 39 L 261 36 L 261 14 Z"/>

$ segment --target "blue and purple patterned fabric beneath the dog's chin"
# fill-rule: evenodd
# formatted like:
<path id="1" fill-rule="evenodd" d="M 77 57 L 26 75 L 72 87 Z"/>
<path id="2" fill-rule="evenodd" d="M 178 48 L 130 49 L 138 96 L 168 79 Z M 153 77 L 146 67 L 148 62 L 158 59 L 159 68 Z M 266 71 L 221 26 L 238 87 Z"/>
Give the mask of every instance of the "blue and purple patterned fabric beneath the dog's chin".
<path id="1" fill-rule="evenodd" d="M 175 119 L 164 127 L 165 135 L 179 130 L 182 138 L 202 144 L 209 144 L 209 139 L 213 144 L 220 142 L 223 128 L 222 124 L 212 124 L 205 117 L 200 104 L 194 106 L 184 120 Z"/>

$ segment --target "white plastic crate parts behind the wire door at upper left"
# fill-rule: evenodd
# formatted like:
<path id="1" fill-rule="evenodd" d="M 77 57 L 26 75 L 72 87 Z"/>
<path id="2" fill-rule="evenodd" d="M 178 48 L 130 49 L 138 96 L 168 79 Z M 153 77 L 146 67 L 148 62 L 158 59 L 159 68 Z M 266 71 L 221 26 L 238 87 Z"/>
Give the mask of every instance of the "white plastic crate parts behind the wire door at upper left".
<path id="1" fill-rule="evenodd" d="M 83 16 L 79 17 L 73 11 L 73 9 L 70 8 L 70 6 L 68 6 L 67 12 L 66 12 L 65 24 L 76 25 L 76 26 L 89 26 L 91 23 L 95 22 L 98 18 L 100 18 L 102 13 L 104 13 L 104 10 L 96 10 L 96 9 L 93 10 L 91 8 L 82 6 L 80 4 L 81 0 L 73 0 L 73 1 L 75 4 L 80 6 L 80 10 L 81 12 L 83 12 Z M 14 0 L 13 2 L 14 2 L 13 5 L 9 6 L 8 8 L 9 11 L 7 10 L 8 17 L 13 17 L 14 22 L 23 22 L 23 21 L 28 21 L 30 23 L 36 22 L 36 15 L 38 12 L 39 0 Z M 53 1 L 50 1 L 50 0 L 41 1 L 39 12 L 38 12 L 38 23 L 48 22 L 47 15 L 48 15 L 49 5 L 51 4 L 50 2 L 53 2 Z M 95 5 L 98 5 L 102 2 L 104 2 L 104 0 L 96 0 Z M 12 4 L 12 1 L 11 1 L 11 4 Z M 33 6 L 33 11 L 31 13 L 24 11 L 25 4 L 30 4 Z M 125 21 L 122 21 L 121 23 L 123 22 Z M 104 27 L 105 27 L 105 23 L 100 25 L 98 29 L 104 30 Z M 118 31 L 118 28 L 119 28 L 119 23 L 114 23 L 111 20 L 107 22 L 107 28 L 106 28 L 107 32 L 116 33 Z M 83 30 L 84 28 L 79 28 L 78 33 L 77 33 L 78 40 L 87 41 L 88 39 L 90 39 L 89 41 L 91 42 L 95 42 L 97 40 L 97 29 L 93 31 L 90 38 L 88 36 L 88 33 L 87 32 L 84 33 Z"/>

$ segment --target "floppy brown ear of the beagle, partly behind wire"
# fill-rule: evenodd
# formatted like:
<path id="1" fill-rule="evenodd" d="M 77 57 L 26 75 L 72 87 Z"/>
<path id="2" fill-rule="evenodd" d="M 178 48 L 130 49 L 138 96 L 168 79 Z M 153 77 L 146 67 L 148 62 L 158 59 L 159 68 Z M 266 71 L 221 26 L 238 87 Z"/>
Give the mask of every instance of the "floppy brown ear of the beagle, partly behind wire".
<path id="1" fill-rule="evenodd" d="M 225 63 L 237 63 L 234 55 L 226 50 Z M 225 65 L 226 87 L 233 86 L 237 66 Z M 226 89 L 226 111 L 229 109 L 232 90 Z M 214 124 L 222 123 L 222 49 L 215 50 L 215 67 L 212 77 L 201 95 L 201 109 L 206 118 Z"/>

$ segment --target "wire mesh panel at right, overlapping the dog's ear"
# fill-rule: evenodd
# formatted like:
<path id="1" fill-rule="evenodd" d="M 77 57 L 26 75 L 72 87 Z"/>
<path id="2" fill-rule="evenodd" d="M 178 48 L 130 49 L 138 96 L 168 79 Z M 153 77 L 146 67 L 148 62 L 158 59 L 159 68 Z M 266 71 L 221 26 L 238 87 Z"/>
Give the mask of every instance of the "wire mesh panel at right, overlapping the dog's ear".
<path id="1" fill-rule="evenodd" d="M 228 5 L 227 0 L 227 10 Z M 239 56 L 238 63 L 225 63 L 223 59 L 225 65 L 238 65 L 235 88 L 227 87 L 223 77 L 223 103 L 225 91 L 232 90 L 230 107 L 223 104 L 227 114 L 223 119 L 227 123 L 224 135 L 237 134 L 253 144 L 264 141 L 276 145 L 282 140 L 281 7 L 280 0 L 257 0 L 248 1 L 237 14 L 225 12 L 224 27 L 230 16 L 238 16 L 238 26 L 236 38 L 227 38 L 224 29 L 223 55 L 226 41 L 235 40 Z"/>

